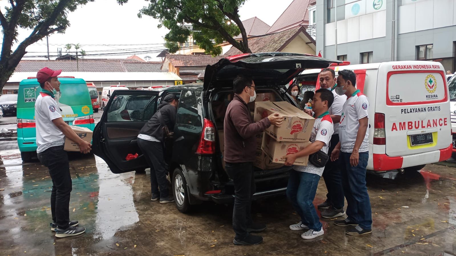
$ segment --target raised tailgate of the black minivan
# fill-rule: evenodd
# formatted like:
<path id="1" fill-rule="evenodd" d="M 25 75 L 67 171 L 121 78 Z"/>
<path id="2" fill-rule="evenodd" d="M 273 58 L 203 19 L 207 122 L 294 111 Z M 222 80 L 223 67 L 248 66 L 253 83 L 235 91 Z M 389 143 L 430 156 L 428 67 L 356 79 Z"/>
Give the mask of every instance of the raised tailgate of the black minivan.
<path id="1" fill-rule="evenodd" d="M 204 90 L 232 88 L 233 79 L 238 75 L 252 77 L 256 86 L 272 86 L 279 89 L 304 69 L 325 68 L 331 63 L 339 62 L 342 63 L 309 54 L 286 52 L 230 56 L 206 67 Z"/>

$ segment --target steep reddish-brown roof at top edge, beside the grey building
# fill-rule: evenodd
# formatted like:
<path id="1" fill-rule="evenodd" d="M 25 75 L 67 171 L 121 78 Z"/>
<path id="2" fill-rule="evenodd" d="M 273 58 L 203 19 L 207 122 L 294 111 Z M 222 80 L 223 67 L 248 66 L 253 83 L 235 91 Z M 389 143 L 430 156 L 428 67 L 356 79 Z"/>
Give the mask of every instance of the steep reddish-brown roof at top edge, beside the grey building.
<path id="1" fill-rule="evenodd" d="M 268 34 L 279 32 L 291 26 L 309 25 L 309 1 L 310 0 L 293 0 L 286 10 L 280 15 Z"/>

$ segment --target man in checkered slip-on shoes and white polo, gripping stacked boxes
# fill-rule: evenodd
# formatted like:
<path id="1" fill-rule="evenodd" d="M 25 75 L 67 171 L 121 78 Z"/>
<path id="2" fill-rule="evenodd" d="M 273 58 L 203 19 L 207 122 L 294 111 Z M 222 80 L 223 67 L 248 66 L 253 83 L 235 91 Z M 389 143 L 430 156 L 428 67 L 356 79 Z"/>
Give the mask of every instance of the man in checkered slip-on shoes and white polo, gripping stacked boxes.
<path id="1" fill-rule="evenodd" d="M 334 96 L 329 90 L 319 89 L 315 92 L 312 108 L 315 112 L 316 120 L 311 133 L 311 144 L 295 154 L 288 154 L 282 157 L 282 159 L 285 159 L 285 165 L 293 165 L 297 158 L 311 155 L 318 151 L 322 151 L 324 154 L 328 153 L 329 142 L 331 141 L 332 133 L 334 133 L 334 126 L 328 109 L 333 101 Z M 290 225 L 290 230 L 307 229 L 301 235 L 303 239 L 312 239 L 324 233 L 312 203 L 315 198 L 318 181 L 324 169 L 324 164 L 323 167 L 316 167 L 309 162 L 307 166 L 293 165 L 293 170 L 290 171 L 286 194 L 293 208 L 301 217 L 300 222 Z"/>

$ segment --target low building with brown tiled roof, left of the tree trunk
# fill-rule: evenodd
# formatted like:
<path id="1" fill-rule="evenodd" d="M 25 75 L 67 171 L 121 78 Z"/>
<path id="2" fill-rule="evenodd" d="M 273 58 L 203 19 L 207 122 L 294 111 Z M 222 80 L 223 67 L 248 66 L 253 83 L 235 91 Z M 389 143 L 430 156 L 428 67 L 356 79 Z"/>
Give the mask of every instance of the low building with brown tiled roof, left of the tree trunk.
<path id="1" fill-rule="evenodd" d="M 162 71 L 175 73 L 182 78 L 184 83 L 196 82 L 198 74 L 202 73 L 207 65 L 217 63 L 224 56 L 210 55 L 183 55 L 183 54 L 168 54 L 161 66 Z"/>

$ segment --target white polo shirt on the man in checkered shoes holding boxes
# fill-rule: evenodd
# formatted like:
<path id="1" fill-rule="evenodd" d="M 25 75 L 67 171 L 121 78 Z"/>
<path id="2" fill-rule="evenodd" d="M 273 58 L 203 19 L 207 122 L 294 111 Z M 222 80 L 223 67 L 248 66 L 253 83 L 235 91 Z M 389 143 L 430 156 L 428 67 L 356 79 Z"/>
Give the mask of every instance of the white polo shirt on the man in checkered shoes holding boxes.
<path id="1" fill-rule="evenodd" d="M 331 141 L 332 134 L 334 133 L 334 125 L 332 124 L 332 118 L 329 115 L 329 112 L 321 114 L 319 117 L 316 117 L 314 127 L 311 133 L 310 141 L 313 143 L 315 141 L 321 141 L 324 143 L 321 151 L 328 154 L 329 142 Z M 321 177 L 325 167 L 316 167 L 310 162 L 307 166 L 302 165 L 293 165 L 293 169 L 298 172 L 306 172 L 311 174 L 317 174 Z"/>

